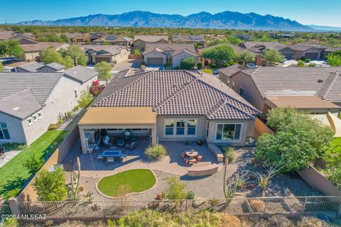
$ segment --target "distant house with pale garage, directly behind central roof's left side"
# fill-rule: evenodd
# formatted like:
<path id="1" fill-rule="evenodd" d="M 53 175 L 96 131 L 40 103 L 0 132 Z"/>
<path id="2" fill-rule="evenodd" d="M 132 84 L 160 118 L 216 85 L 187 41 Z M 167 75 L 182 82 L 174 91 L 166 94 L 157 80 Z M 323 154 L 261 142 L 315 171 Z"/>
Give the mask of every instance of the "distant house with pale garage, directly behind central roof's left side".
<path id="1" fill-rule="evenodd" d="M 129 48 L 121 45 L 81 45 L 80 48 L 89 57 L 90 64 L 98 62 L 121 62 L 129 57 Z"/>

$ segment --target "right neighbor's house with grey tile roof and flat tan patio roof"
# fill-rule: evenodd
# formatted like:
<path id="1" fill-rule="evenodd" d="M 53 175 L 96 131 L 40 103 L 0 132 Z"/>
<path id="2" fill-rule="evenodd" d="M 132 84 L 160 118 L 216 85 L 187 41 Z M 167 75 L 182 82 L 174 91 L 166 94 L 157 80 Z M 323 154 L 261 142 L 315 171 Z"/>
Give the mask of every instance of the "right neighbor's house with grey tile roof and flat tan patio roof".
<path id="1" fill-rule="evenodd" d="M 258 67 L 232 65 L 219 78 L 249 101 L 265 118 L 268 109 L 292 106 L 313 114 L 341 109 L 341 67 Z"/>

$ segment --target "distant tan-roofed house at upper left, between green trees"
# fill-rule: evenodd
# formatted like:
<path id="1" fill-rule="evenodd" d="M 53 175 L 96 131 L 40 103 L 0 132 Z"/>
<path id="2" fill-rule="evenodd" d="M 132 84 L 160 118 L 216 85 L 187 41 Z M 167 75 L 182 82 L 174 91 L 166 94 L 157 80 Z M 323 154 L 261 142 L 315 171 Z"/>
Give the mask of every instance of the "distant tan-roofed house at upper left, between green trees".
<path id="1" fill-rule="evenodd" d="M 38 60 L 43 54 L 43 50 L 48 48 L 54 48 L 56 51 L 66 49 L 69 46 L 67 43 L 51 43 L 51 42 L 39 42 L 32 44 L 21 44 L 23 49 L 23 56 L 19 57 L 20 60 L 33 61 Z"/>

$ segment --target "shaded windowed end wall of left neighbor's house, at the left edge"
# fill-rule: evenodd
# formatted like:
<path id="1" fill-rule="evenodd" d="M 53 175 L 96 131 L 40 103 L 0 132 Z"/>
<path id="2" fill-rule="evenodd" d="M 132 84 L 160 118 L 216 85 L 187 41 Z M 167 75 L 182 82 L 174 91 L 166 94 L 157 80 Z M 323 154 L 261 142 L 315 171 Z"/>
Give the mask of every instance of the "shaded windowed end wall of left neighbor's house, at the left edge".
<path id="1" fill-rule="evenodd" d="M 23 132 L 23 125 L 21 119 L 14 118 L 7 114 L 0 112 L 0 123 L 6 123 L 9 130 L 9 137 L 11 140 L 0 140 L 0 143 L 16 142 L 26 143 L 25 133 Z"/>

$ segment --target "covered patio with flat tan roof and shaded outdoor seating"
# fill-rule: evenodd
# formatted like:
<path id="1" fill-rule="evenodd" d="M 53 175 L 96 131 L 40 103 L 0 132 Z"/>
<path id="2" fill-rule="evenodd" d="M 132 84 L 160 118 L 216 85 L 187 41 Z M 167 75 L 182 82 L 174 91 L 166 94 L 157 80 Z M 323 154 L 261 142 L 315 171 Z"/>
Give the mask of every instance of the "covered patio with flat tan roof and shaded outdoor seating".
<path id="1" fill-rule="evenodd" d="M 156 113 L 151 107 L 90 107 L 78 126 L 82 153 L 124 148 L 139 137 L 156 144 Z"/>

